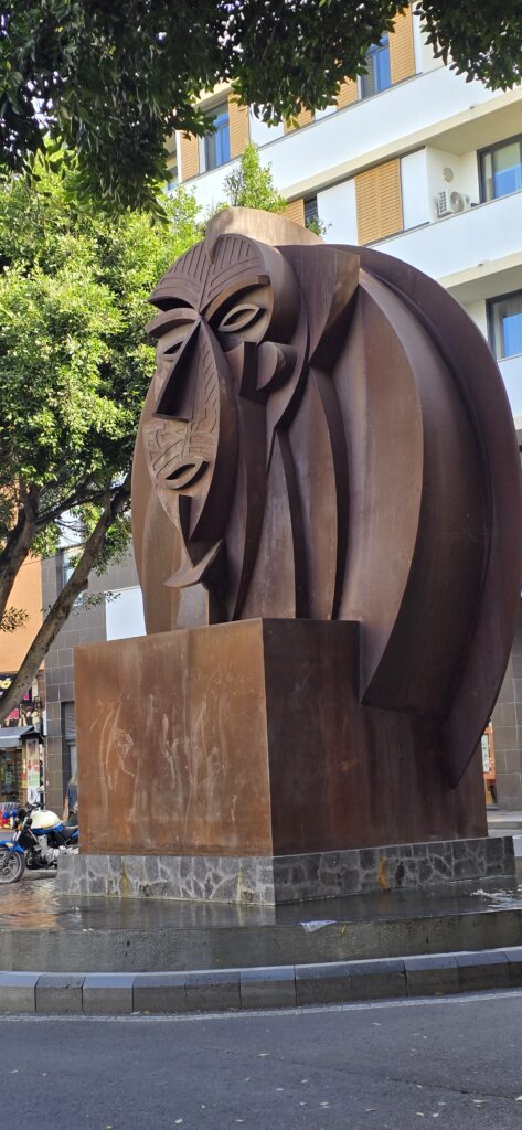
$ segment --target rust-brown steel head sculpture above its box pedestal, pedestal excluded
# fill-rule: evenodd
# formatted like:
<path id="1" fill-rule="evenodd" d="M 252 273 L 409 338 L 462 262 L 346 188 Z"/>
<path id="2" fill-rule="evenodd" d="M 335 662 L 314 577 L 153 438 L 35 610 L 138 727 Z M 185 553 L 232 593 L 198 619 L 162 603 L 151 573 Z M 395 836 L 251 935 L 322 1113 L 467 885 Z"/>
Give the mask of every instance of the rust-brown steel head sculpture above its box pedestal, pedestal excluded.
<path id="1" fill-rule="evenodd" d="M 478 329 L 414 268 L 246 209 L 151 302 L 133 481 L 148 631 L 358 621 L 359 703 L 440 723 L 455 785 L 521 575 L 519 453 Z"/>

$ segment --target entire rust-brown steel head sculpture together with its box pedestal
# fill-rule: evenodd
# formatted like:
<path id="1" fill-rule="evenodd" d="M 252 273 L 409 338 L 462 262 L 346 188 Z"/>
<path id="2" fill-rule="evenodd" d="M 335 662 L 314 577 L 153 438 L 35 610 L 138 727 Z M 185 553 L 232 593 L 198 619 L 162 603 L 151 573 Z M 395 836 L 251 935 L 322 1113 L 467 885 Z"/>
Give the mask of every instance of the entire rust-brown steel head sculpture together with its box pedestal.
<path id="1" fill-rule="evenodd" d="M 153 303 L 132 502 L 149 634 L 77 649 L 82 851 L 184 857 L 183 897 L 240 901 L 254 857 L 286 899 L 302 871 L 331 893 L 329 852 L 485 836 L 473 751 L 522 538 L 479 331 L 404 263 L 243 209 Z M 441 879 L 466 850 L 437 852 Z"/>

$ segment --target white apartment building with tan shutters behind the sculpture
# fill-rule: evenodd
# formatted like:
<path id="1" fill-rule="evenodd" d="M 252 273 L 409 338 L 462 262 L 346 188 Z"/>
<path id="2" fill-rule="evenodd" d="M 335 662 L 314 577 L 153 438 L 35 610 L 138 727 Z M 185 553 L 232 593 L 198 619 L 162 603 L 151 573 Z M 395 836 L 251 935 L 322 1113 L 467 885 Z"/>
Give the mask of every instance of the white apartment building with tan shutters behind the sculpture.
<path id="1" fill-rule="evenodd" d="M 290 218 L 319 217 L 327 242 L 403 259 L 464 306 L 498 360 L 522 443 L 522 87 L 467 82 L 434 58 L 411 10 L 367 67 L 299 128 L 268 127 L 217 88 L 202 99 L 216 132 L 177 136 L 173 180 L 217 203 L 254 141 Z M 522 623 L 487 740 L 488 785 L 495 772 L 498 803 L 522 808 Z"/>

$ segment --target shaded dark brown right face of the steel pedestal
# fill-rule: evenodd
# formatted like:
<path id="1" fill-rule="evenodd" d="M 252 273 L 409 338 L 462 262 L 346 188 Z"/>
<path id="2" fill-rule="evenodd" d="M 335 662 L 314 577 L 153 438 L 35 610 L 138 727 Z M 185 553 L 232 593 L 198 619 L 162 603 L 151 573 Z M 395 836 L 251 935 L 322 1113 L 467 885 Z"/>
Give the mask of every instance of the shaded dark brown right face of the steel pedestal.
<path id="1" fill-rule="evenodd" d="M 263 620 L 275 853 L 487 835 L 479 757 L 453 789 L 437 725 L 358 704 L 358 627 Z"/>

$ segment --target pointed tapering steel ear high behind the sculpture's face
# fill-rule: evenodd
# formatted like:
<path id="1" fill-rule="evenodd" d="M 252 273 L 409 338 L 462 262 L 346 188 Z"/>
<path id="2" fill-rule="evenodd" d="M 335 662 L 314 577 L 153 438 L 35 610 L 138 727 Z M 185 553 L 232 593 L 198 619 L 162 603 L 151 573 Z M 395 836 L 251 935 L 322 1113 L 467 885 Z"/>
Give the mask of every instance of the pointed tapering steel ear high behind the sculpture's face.
<path id="1" fill-rule="evenodd" d="M 340 247 L 281 247 L 298 277 L 308 313 L 310 363 L 330 368 L 347 331 L 359 257 Z"/>

